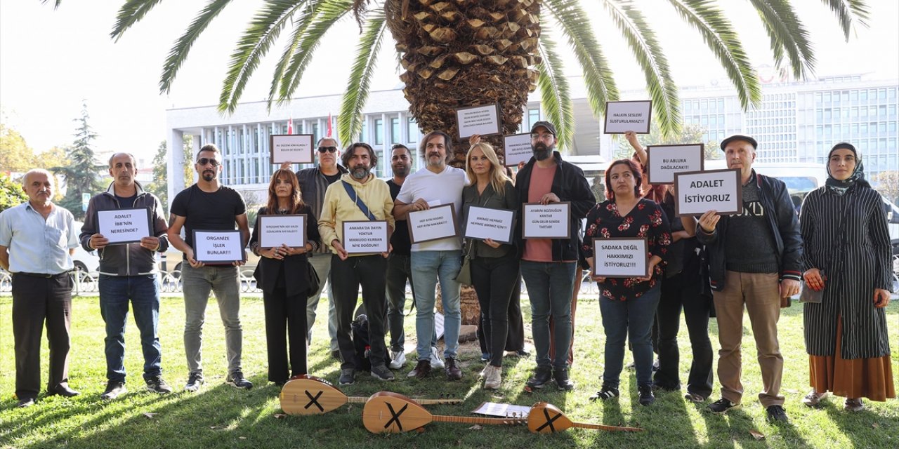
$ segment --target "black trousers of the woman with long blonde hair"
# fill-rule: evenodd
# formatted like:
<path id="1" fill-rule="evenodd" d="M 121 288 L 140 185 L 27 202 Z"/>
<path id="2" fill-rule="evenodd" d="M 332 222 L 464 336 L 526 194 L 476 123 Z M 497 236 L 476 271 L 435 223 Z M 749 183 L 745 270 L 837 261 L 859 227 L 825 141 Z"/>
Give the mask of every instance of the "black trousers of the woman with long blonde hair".
<path id="1" fill-rule="evenodd" d="M 488 342 L 490 365 L 503 365 L 503 349 L 509 331 L 509 303 L 519 275 L 515 251 L 500 258 L 478 257 L 471 261 L 471 282 L 481 306 L 481 326 Z"/>

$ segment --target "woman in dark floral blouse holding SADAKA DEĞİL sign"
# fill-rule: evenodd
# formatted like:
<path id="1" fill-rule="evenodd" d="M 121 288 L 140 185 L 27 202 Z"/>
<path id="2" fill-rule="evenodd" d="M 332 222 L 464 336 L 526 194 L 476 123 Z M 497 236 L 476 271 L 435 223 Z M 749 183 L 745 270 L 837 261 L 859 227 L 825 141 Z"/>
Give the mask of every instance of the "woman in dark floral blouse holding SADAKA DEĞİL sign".
<path id="1" fill-rule="evenodd" d="M 605 371 L 602 389 L 591 396 L 608 400 L 619 396 L 619 379 L 624 363 L 625 340 L 630 339 L 636 367 L 640 403 L 652 404 L 653 328 L 655 307 L 662 292 L 664 260 L 672 242 L 668 218 L 662 207 L 642 198 L 643 175 L 636 163 L 620 159 L 606 171 L 606 196 L 587 214 L 583 250 L 590 254 L 593 268 L 593 239 L 645 238 L 649 256 L 648 277 L 593 277 L 600 287 L 600 313 L 606 332 Z"/>

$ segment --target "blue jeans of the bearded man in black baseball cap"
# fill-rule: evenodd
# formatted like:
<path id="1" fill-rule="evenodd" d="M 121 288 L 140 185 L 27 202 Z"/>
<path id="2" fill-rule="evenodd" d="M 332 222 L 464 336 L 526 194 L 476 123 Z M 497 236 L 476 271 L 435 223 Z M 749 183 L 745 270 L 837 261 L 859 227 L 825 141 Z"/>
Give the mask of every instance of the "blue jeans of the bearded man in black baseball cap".
<path id="1" fill-rule="evenodd" d="M 571 345 L 571 296 L 577 262 L 521 260 L 521 277 L 528 286 L 530 326 L 534 335 L 537 365 L 564 368 Z M 549 316 L 554 322 L 555 359 L 549 360 Z"/>

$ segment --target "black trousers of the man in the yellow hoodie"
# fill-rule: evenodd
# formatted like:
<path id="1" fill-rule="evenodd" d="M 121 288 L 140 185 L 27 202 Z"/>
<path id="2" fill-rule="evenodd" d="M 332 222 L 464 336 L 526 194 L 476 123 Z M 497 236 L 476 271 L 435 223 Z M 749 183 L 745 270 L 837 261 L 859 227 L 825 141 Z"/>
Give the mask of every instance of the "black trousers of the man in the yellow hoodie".
<path id="1" fill-rule="evenodd" d="M 371 365 L 386 365 L 384 355 L 384 319 L 387 316 L 387 259 L 380 255 L 351 256 L 340 260 L 331 257 L 331 285 L 334 287 L 334 308 L 337 313 L 337 346 L 340 348 L 341 369 L 354 368 L 352 345 L 352 316 L 362 286 L 362 305 L 369 316 Z"/>

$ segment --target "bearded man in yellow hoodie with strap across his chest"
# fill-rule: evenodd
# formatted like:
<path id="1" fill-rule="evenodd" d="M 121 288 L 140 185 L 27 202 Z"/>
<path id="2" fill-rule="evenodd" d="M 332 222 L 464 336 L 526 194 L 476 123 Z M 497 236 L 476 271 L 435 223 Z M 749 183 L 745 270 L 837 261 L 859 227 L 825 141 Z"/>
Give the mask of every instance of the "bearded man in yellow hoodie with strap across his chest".
<path id="1" fill-rule="evenodd" d="M 331 246 L 331 279 L 334 281 L 334 306 L 337 312 L 337 346 L 340 348 L 341 385 L 355 382 L 355 348 L 351 337 L 352 313 L 362 286 L 362 305 L 369 316 L 371 376 L 381 381 L 394 380 L 385 360 L 384 319 L 387 315 L 387 252 L 349 254 L 343 248 L 343 222 L 387 221 L 388 238 L 393 233 L 393 198 L 387 182 L 371 174 L 378 155 L 363 143 L 350 145 L 343 154 L 343 166 L 350 172 L 325 190 L 318 232 L 322 242 Z"/>

